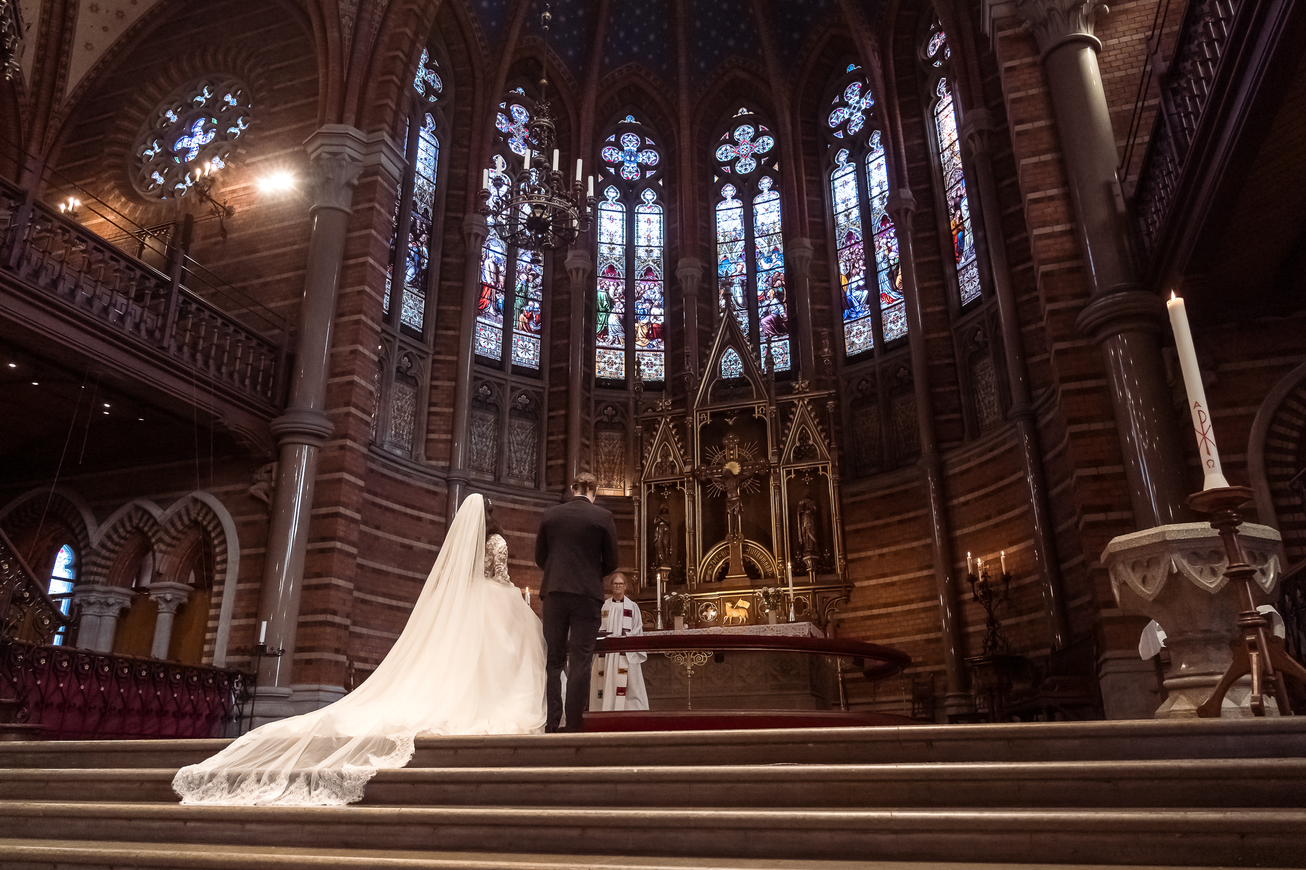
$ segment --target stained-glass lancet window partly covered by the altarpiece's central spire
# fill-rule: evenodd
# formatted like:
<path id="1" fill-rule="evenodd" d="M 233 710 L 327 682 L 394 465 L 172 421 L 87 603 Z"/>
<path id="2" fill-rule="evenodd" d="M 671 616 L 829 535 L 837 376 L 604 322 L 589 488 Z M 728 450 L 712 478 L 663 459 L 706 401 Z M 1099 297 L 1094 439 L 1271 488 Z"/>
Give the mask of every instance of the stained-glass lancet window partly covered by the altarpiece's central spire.
<path id="1" fill-rule="evenodd" d="M 713 146 L 716 162 L 717 310 L 729 308 L 765 365 L 790 367 L 780 149 L 761 119 L 741 108 Z M 731 377 L 733 361 L 724 373 Z M 726 370 L 729 369 L 729 370 Z"/>

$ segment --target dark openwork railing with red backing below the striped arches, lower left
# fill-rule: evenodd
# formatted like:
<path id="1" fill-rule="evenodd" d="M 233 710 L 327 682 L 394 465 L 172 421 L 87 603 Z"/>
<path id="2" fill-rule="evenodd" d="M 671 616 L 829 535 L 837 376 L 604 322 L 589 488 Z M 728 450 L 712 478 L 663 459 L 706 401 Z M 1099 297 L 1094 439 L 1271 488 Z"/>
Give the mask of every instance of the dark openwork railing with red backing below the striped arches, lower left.
<path id="1" fill-rule="evenodd" d="M 0 733 L 52 740 L 225 737 L 239 670 L 50 643 L 73 620 L 0 531 Z"/>

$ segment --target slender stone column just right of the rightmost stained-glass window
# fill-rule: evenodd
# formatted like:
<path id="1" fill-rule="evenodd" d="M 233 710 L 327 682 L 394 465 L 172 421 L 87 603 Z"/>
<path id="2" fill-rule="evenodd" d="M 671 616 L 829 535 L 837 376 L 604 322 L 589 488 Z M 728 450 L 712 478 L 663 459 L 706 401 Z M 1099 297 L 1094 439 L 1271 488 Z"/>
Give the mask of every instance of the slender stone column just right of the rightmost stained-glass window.
<path id="1" fill-rule="evenodd" d="M 1043 582 L 1043 613 L 1053 634 L 1053 648 L 1070 643 L 1070 621 L 1066 616 L 1066 592 L 1057 556 L 1057 527 L 1047 501 L 1047 483 L 1043 475 L 1043 453 L 1038 442 L 1038 420 L 1034 417 L 1033 397 L 1029 389 L 1029 367 L 1025 364 L 1025 344 L 1020 333 L 1020 310 L 1016 291 L 1011 284 L 1007 263 L 1007 240 L 1002 232 L 1002 207 L 998 205 L 998 185 L 993 179 L 993 151 L 990 133 L 993 115 L 986 108 L 973 108 L 965 113 L 961 137 L 970 157 L 970 168 L 980 188 L 980 219 L 989 239 L 989 262 L 993 266 L 994 295 L 998 297 L 998 318 L 1002 323 L 1002 347 L 1007 363 L 1007 383 L 1011 387 L 1011 411 L 1007 417 L 1016 424 L 1020 438 L 1020 457 L 1029 484 L 1030 520 L 1033 522 L 1034 562 Z"/>

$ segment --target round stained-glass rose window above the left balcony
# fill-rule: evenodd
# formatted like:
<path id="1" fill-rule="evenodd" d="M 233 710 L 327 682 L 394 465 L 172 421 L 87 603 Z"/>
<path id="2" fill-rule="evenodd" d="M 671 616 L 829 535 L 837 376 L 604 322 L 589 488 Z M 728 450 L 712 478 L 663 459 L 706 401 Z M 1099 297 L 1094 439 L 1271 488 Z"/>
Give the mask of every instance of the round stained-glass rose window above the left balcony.
<path id="1" fill-rule="evenodd" d="M 185 196 L 201 166 L 229 164 L 249 123 L 249 91 L 235 78 L 209 76 L 174 91 L 141 124 L 132 185 L 153 200 Z"/>

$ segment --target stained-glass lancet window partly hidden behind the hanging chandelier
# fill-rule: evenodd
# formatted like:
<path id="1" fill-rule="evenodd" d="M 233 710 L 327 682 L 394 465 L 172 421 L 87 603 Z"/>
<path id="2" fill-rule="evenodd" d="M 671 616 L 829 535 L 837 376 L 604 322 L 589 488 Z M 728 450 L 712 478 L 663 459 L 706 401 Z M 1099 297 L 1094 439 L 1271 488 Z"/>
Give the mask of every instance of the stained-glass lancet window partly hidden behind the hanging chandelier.
<path id="1" fill-rule="evenodd" d="M 521 87 L 508 91 L 495 113 L 495 141 L 490 157 L 492 180 L 525 172 L 526 125 L 534 102 Z M 538 172 L 538 170 L 530 170 Z M 507 190 L 508 188 L 504 188 Z M 494 210 L 498 202 L 490 200 Z M 482 361 L 503 365 L 508 356 L 515 369 L 539 372 L 539 342 L 543 305 L 543 260 L 538 253 L 517 250 L 499 237 L 494 217 L 481 249 L 481 297 L 477 303 L 475 352 Z M 508 348 L 507 352 L 504 348 Z"/>

